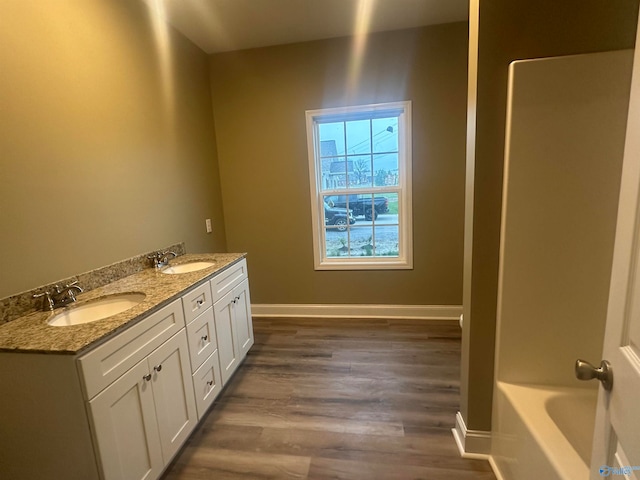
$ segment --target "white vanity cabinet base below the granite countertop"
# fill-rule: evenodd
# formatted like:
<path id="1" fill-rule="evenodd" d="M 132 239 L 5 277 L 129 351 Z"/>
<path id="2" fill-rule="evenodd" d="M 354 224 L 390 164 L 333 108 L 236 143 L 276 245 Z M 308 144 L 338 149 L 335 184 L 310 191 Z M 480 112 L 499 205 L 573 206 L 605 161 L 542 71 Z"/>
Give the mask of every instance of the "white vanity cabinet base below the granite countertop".
<path id="1" fill-rule="evenodd" d="M 200 282 L 82 353 L 0 351 L 0 478 L 157 480 L 253 344 L 246 261 Z"/>

